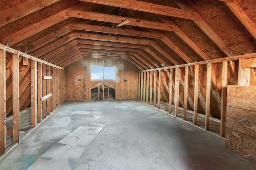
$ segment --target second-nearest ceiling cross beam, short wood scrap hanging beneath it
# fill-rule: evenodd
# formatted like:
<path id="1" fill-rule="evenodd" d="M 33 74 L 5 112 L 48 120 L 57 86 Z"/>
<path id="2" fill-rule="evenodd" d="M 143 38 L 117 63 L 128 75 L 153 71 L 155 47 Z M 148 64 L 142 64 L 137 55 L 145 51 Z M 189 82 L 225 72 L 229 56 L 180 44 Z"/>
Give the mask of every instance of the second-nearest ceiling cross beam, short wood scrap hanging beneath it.
<path id="1" fill-rule="evenodd" d="M 114 16 L 109 14 L 102 14 L 98 12 L 88 12 L 83 10 L 70 10 L 67 12 L 67 16 L 75 17 L 75 18 L 83 18 L 87 20 L 96 20 L 103 22 L 111 22 L 111 23 L 120 23 L 124 20 L 129 20 L 126 25 L 132 25 L 137 27 L 145 27 L 152 29 L 161 29 L 165 31 L 178 31 L 177 27 L 172 27 L 166 23 L 147 21 L 147 20 L 138 20 L 136 18 L 127 18 L 122 16 Z"/>

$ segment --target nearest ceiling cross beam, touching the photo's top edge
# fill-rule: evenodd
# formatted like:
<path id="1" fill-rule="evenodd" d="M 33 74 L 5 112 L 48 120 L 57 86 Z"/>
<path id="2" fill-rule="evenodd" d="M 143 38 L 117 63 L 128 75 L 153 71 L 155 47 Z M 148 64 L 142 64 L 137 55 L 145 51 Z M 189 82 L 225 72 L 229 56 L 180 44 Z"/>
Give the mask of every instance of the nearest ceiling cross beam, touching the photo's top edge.
<path id="1" fill-rule="evenodd" d="M 184 11 L 178 8 L 172 8 L 169 6 L 162 6 L 158 4 L 152 4 L 148 2 L 141 2 L 138 0 L 81 0 L 84 2 L 92 2 L 96 4 L 114 6 L 118 8 L 126 8 L 130 10 L 137 10 L 142 12 L 149 12 L 153 14 L 160 14 L 165 16 L 172 16 L 178 18 L 184 18 L 188 20 L 199 20 L 200 16 L 193 11 Z M 127 19 L 129 20 L 129 19 Z M 130 20 L 129 20 L 130 21 Z"/>

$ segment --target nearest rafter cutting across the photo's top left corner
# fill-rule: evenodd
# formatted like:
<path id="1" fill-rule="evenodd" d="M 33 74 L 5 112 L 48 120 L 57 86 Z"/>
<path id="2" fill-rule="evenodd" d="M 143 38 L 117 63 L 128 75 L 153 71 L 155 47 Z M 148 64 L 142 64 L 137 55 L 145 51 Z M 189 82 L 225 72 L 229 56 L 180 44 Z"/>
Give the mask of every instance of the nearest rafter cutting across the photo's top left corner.
<path id="1" fill-rule="evenodd" d="M 60 0 L 40 0 L 38 3 L 36 0 L 28 0 L 12 8 L 8 8 L 7 10 L 0 12 L 0 27 L 32 14 L 33 12 L 52 5 L 58 1 Z"/>

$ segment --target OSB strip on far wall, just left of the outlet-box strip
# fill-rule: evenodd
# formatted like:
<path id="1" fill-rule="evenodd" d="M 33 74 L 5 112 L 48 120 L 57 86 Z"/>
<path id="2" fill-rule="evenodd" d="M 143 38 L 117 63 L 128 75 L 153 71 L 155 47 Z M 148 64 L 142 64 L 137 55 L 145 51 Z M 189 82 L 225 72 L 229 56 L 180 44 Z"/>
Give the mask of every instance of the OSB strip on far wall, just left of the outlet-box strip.
<path id="1" fill-rule="evenodd" d="M 68 101 L 76 100 L 76 63 L 68 67 Z"/>

